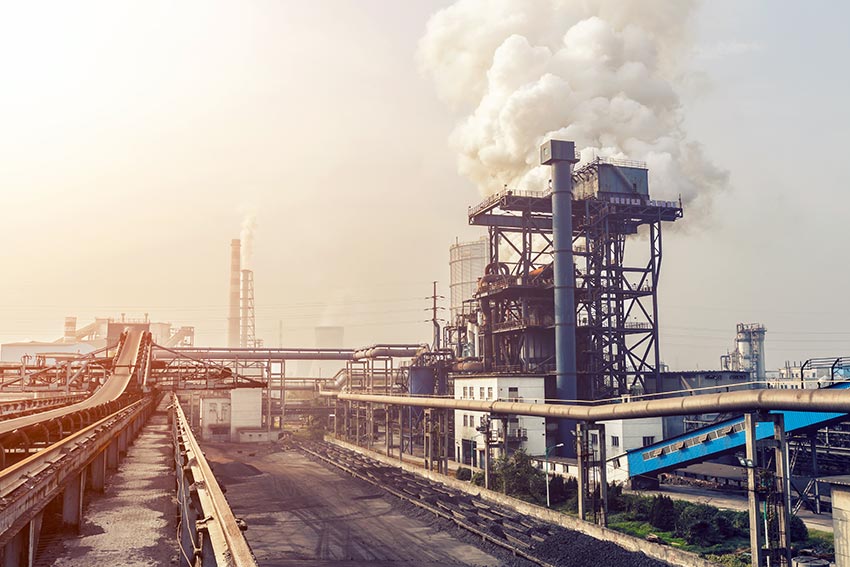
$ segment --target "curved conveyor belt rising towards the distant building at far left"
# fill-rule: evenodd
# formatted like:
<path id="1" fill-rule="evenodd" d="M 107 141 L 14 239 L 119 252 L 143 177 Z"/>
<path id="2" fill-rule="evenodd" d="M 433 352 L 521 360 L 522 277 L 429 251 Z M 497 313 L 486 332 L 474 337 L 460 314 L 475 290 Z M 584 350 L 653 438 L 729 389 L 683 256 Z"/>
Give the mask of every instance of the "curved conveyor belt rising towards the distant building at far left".
<path id="1" fill-rule="evenodd" d="M 89 398 L 77 404 L 2 421 L 0 422 L 0 435 L 117 400 L 127 389 L 133 376 L 133 367 L 142 346 L 143 334 L 141 330 L 129 330 L 127 332 L 127 338 L 124 340 L 112 373 L 103 386 L 98 388 Z"/>

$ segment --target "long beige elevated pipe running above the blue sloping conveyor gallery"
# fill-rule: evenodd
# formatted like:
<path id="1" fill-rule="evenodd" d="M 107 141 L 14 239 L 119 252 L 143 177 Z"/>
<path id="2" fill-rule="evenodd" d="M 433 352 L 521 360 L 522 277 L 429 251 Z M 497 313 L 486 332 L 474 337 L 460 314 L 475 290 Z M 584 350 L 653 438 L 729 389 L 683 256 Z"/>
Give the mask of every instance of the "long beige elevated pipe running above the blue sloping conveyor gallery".
<path id="1" fill-rule="evenodd" d="M 850 390 L 827 388 L 809 390 L 743 390 L 719 394 L 701 394 L 660 400 L 623 402 L 603 405 L 529 404 L 525 402 L 488 402 L 451 398 L 349 394 L 323 390 L 322 396 L 340 400 L 377 404 L 447 408 L 480 411 L 502 415 L 529 415 L 580 421 L 638 419 L 694 415 L 701 413 L 734 413 L 756 410 L 850 413 Z"/>

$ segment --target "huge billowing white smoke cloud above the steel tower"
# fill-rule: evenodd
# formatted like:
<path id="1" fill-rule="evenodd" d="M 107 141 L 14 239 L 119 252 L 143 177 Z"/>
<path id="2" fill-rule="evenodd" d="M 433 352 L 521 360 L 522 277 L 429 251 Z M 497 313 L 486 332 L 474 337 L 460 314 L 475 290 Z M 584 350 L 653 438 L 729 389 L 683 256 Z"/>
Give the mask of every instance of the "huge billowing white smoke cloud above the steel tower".
<path id="1" fill-rule="evenodd" d="M 450 138 L 483 194 L 542 190 L 547 138 L 582 161 L 645 161 L 653 198 L 704 209 L 728 174 L 688 139 L 676 93 L 695 4 L 645 0 L 459 0 L 437 12 L 419 58 L 437 92 L 469 114 Z"/>

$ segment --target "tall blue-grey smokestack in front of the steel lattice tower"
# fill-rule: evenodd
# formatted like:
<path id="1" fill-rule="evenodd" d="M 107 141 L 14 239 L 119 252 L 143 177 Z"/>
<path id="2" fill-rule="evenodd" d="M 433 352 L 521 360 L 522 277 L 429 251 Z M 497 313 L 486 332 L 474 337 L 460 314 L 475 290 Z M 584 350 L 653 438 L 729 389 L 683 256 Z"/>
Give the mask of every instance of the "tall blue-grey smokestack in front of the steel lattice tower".
<path id="1" fill-rule="evenodd" d="M 576 379 L 576 301 L 573 262 L 573 177 L 575 144 L 549 140 L 540 146 L 540 164 L 552 166 L 552 237 L 555 248 L 555 394 L 559 400 L 578 399 Z M 574 457 L 570 434 L 576 422 L 558 421 L 562 455 Z"/>

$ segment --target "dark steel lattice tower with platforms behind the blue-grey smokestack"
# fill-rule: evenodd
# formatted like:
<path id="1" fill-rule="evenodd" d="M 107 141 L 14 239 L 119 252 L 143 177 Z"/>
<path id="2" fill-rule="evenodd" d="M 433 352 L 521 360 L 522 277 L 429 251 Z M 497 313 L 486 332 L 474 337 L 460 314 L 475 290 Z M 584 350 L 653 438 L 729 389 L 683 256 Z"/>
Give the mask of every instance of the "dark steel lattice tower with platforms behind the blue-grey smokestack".
<path id="1" fill-rule="evenodd" d="M 681 202 L 650 199 L 647 170 L 638 162 L 597 159 L 572 178 L 577 397 L 640 391 L 658 380 L 661 228 L 681 218 Z M 551 374 L 552 192 L 506 190 L 471 207 L 468 217 L 489 237 L 477 293 L 484 370 Z M 643 254 L 637 245 L 644 239 L 629 238 L 639 232 L 646 236 Z"/>

